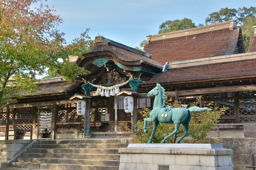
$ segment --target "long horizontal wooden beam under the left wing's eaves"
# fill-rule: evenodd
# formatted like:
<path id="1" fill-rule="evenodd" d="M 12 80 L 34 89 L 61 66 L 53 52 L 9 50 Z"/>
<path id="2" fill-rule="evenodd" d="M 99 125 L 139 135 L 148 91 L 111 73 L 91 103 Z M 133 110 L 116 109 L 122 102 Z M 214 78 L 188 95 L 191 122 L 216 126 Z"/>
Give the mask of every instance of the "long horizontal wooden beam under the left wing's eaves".
<path id="1" fill-rule="evenodd" d="M 56 101 L 56 105 L 76 103 L 77 100 L 78 99 L 75 99 L 75 100 L 59 100 L 59 101 Z M 49 105 L 53 105 L 53 101 L 43 101 L 43 102 L 35 102 L 35 103 L 23 103 L 23 104 L 11 104 L 11 105 L 9 105 L 9 108 L 10 109 L 14 109 L 14 108 L 36 107 L 36 106 L 49 106 Z"/>

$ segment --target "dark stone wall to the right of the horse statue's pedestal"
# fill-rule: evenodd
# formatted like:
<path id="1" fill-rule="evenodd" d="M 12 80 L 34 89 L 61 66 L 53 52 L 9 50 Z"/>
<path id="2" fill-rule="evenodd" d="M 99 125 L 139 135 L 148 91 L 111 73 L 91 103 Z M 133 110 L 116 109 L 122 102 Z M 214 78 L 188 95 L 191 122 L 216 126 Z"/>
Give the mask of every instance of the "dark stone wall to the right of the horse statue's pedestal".
<path id="1" fill-rule="evenodd" d="M 256 138 L 216 138 L 225 149 L 232 149 L 233 170 L 249 170 L 252 166 L 252 154 L 256 154 Z M 256 159 L 256 157 L 255 157 Z"/>

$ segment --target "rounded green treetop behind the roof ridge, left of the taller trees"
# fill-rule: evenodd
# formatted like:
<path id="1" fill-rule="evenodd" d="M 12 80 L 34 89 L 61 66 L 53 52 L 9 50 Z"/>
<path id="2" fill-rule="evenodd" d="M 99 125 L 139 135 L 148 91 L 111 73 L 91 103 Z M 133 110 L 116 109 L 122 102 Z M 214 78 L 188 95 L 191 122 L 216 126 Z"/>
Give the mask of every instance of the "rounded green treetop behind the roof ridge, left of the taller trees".
<path id="1" fill-rule="evenodd" d="M 178 31 L 188 28 L 195 28 L 197 27 L 195 23 L 192 23 L 191 19 L 183 18 L 182 20 L 175 19 L 175 20 L 167 20 L 166 22 L 162 23 L 159 26 L 158 33 L 166 33 L 172 31 Z"/>

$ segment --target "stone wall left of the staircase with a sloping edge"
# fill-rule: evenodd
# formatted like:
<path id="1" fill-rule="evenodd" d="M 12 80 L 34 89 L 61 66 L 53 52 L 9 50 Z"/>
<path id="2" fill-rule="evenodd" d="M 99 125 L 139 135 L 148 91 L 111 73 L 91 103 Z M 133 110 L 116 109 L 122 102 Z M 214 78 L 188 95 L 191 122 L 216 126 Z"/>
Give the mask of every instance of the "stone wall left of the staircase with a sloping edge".
<path id="1" fill-rule="evenodd" d="M 31 142 L 32 140 L 0 140 L 0 164 L 13 158 Z"/>

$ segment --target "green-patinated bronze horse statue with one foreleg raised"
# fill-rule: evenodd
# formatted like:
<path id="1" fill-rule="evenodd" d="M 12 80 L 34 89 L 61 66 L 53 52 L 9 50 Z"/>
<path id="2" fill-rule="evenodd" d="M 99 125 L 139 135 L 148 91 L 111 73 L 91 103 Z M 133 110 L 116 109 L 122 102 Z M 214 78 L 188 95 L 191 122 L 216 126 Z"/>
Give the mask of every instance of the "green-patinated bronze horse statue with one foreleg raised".
<path id="1" fill-rule="evenodd" d="M 179 132 L 180 124 L 183 125 L 185 129 L 185 133 L 182 137 L 180 137 L 176 143 L 180 143 L 180 141 L 188 136 L 190 134 L 190 131 L 188 130 L 189 122 L 191 119 L 191 112 L 199 113 L 204 111 L 210 111 L 209 108 L 199 108 L 197 106 L 193 106 L 189 109 L 185 108 L 173 108 L 170 106 L 165 106 L 165 89 L 157 83 L 157 86 L 153 88 L 151 91 L 148 92 L 148 97 L 156 96 L 153 110 L 150 112 L 150 117 L 144 119 L 144 132 L 147 133 L 148 130 L 146 128 L 147 122 L 155 122 L 154 128 L 151 134 L 151 137 L 148 141 L 148 143 L 152 142 L 152 139 L 154 137 L 154 134 L 156 132 L 157 126 L 159 122 L 161 123 L 169 123 L 174 124 L 175 130 L 169 134 L 168 136 L 164 137 L 164 139 L 161 141 L 161 143 L 165 143 L 167 139 L 169 139 L 171 136 Z"/>

